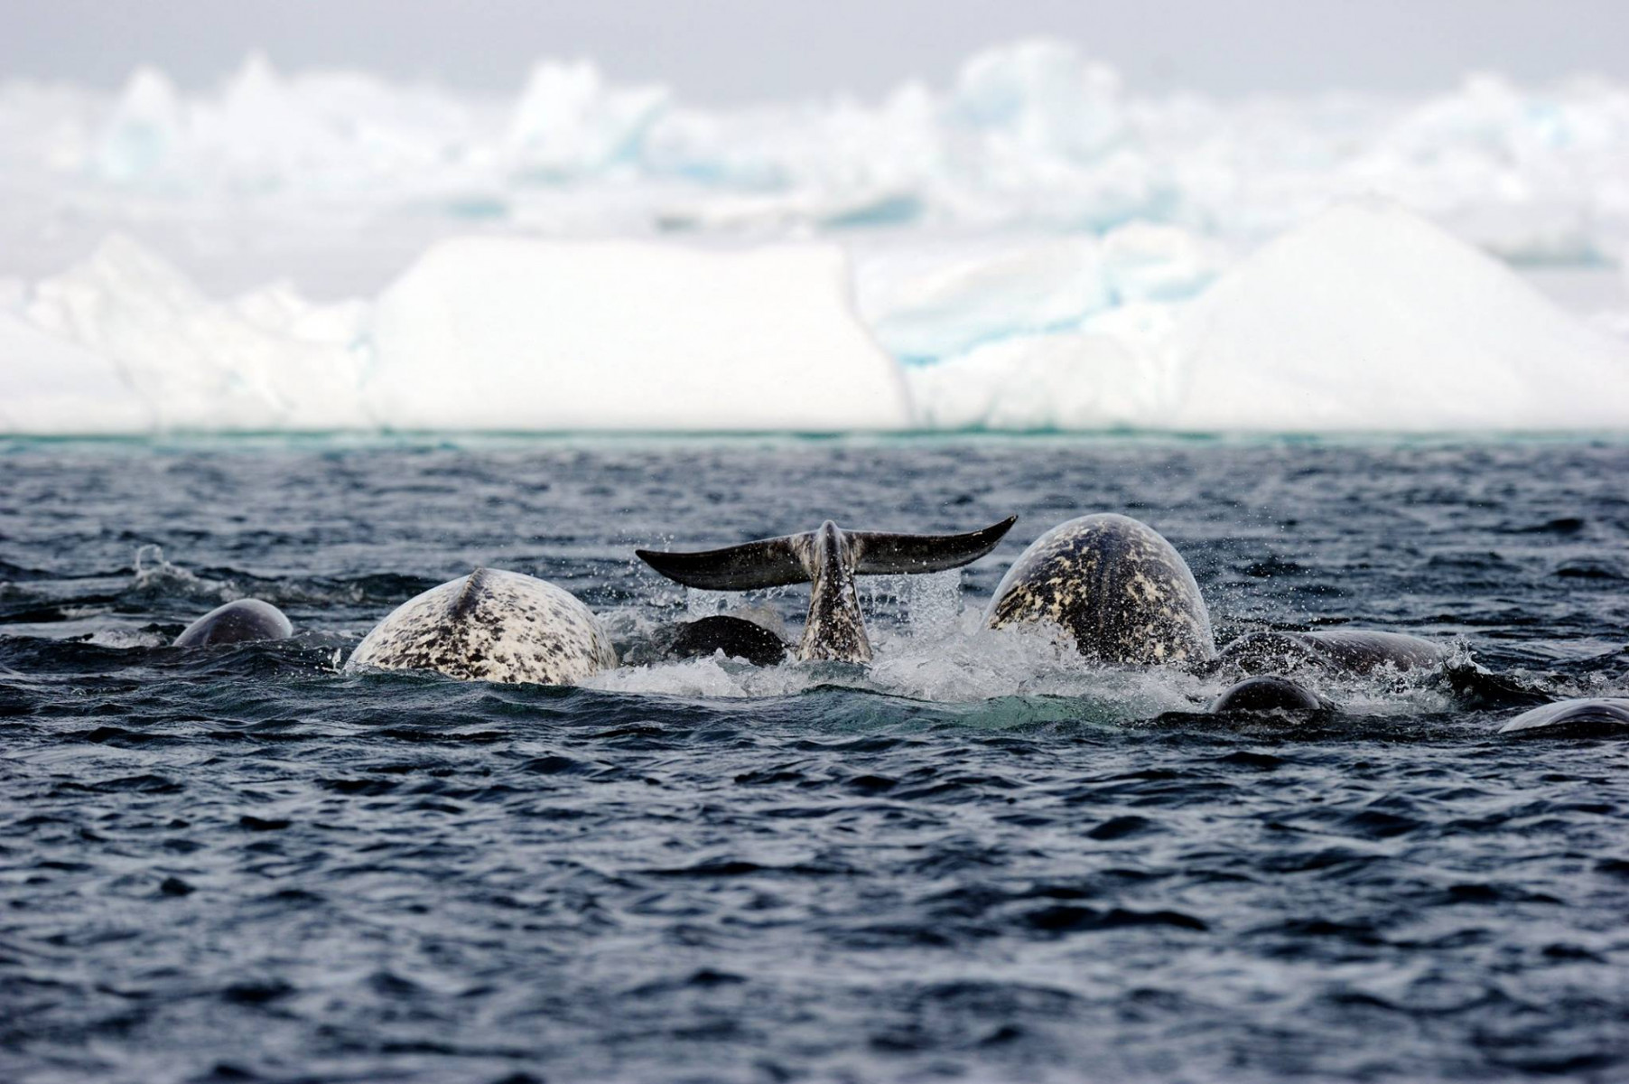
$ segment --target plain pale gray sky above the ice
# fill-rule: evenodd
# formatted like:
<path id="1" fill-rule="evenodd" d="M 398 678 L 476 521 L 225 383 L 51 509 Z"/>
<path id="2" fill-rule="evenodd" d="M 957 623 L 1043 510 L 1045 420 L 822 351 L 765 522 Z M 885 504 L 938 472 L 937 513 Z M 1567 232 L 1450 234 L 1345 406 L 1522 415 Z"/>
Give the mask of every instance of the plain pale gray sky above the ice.
<path id="1" fill-rule="evenodd" d="M 0 0 L 0 78 L 112 86 L 153 62 L 205 86 L 252 47 L 513 91 L 544 55 L 696 103 L 865 96 L 1052 34 L 1144 91 L 1429 91 L 1466 70 L 1629 80 L 1629 0 Z"/>

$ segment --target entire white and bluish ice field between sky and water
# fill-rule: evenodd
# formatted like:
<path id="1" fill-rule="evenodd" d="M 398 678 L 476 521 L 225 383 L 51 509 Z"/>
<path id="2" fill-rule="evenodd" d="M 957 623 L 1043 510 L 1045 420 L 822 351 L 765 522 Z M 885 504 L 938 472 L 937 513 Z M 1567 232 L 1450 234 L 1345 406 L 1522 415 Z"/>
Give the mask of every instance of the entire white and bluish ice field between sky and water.
<path id="1" fill-rule="evenodd" d="M 1629 427 L 1629 293 L 1577 321 L 1510 271 L 1629 254 L 1611 80 L 1214 101 L 1028 41 L 700 109 L 254 55 L 0 85 L 0 189 L 13 434 Z M 169 262 L 290 253 L 370 297 Z"/>

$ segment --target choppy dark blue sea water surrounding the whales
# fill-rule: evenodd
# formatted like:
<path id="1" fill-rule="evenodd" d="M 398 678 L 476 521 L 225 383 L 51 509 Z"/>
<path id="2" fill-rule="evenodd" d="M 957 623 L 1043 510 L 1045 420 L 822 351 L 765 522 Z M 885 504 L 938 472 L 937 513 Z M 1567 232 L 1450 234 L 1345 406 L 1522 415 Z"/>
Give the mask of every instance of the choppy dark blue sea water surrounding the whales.
<path id="1" fill-rule="evenodd" d="M 1629 690 L 1629 448 L 1142 440 L 8 445 L 0 1077 L 1622 1079 L 1629 753 L 1494 735 Z M 976 610 L 1119 510 L 1220 639 L 1350 623 L 1442 672 L 1083 670 Z M 588 690 L 334 670 L 476 564 L 626 654 L 707 610 L 630 561 L 969 530 L 870 670 Z M 163 647 L 223 598 L 300 636 Z M 767 600 L 793 626 L 803 595 Z"/>

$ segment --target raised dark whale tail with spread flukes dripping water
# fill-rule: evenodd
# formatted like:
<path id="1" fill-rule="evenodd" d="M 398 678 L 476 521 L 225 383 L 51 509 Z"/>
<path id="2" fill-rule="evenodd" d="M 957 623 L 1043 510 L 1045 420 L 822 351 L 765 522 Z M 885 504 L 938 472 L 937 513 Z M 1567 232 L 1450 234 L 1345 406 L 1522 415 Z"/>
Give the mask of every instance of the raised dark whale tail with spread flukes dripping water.
<path id="1" fill-rule="evenodd" d="M 785 584 L 811 584 L 810 613 L 797 657 L 801 660 L 870 662 L 857 575 L 943 572 L 995 548 L 1018 517 L 966 535 L 896 535 L 845 531 L 831 520 L 818 530 L 762 538 L 702 553 L 635 549 L 640 561 L 670 580 L 715 592 L 743 592 Z"/>

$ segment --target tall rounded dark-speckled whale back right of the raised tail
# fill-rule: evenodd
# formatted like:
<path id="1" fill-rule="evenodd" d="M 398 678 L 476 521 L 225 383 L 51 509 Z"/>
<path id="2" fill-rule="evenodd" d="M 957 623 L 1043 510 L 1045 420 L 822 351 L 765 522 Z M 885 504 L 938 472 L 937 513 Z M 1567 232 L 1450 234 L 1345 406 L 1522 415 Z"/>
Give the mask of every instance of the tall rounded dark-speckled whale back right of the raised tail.
<path id="1" fill-rule="evenodd" d="M 1194 574 L 1157 530 L 1124 515 L 1083 515 L 1034 540 L 1002 577 L 990 628 L 1052 623 L 1095 662 L 1161 665 L 1215 657 Z"/>

